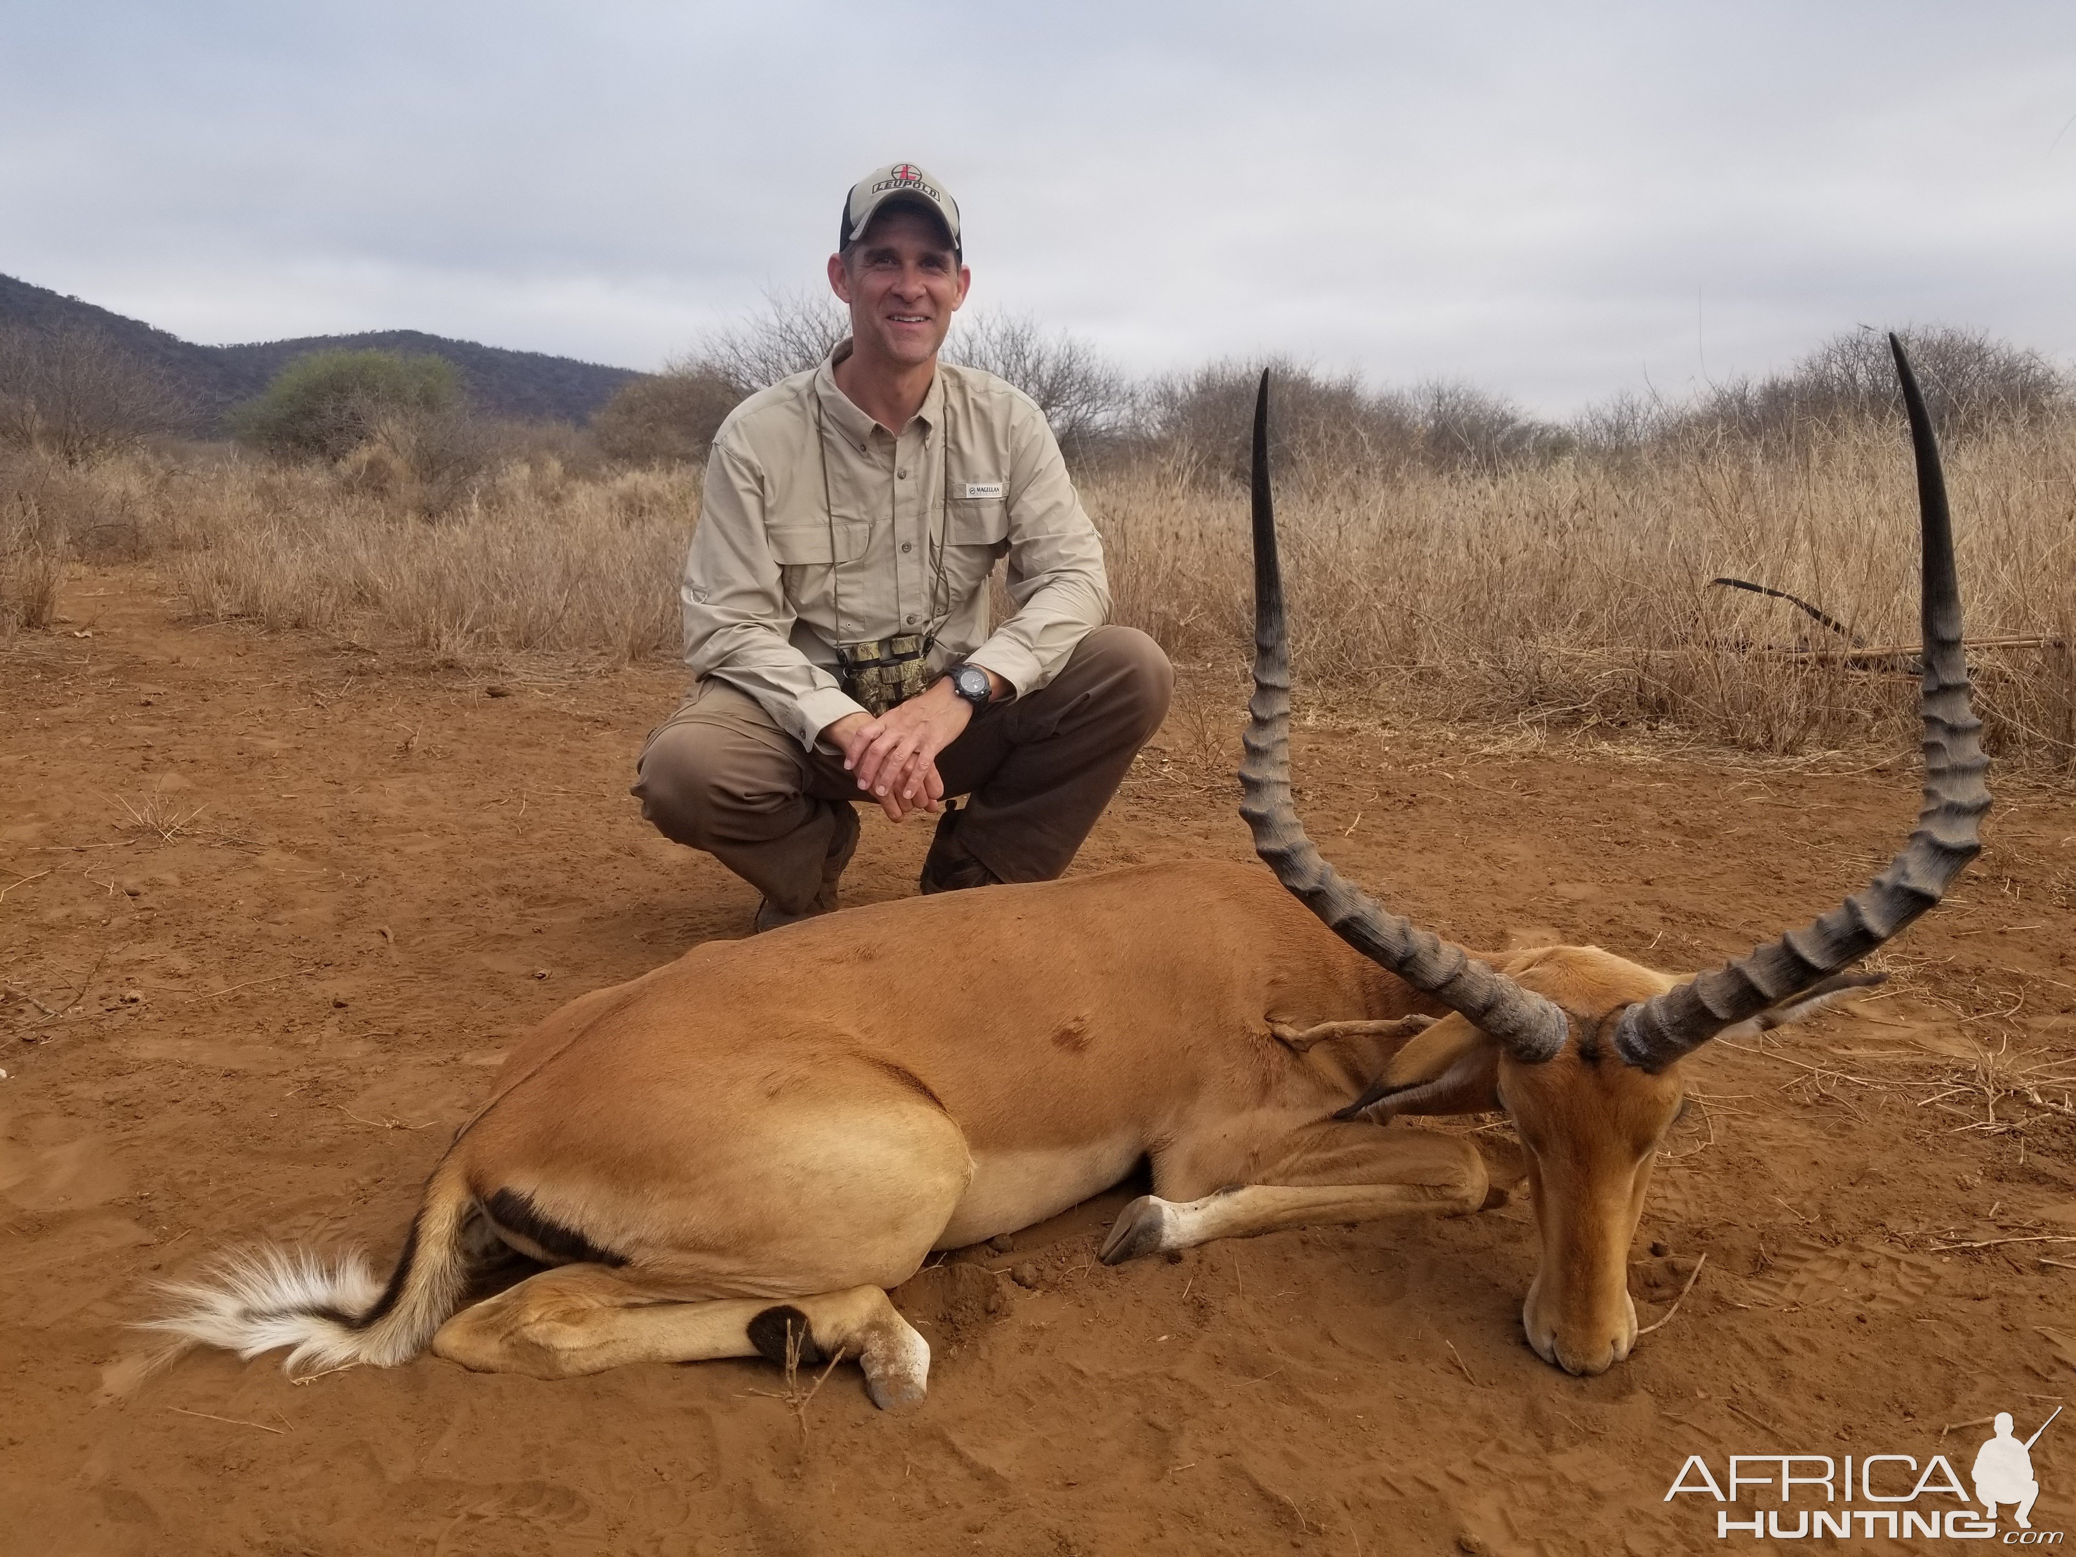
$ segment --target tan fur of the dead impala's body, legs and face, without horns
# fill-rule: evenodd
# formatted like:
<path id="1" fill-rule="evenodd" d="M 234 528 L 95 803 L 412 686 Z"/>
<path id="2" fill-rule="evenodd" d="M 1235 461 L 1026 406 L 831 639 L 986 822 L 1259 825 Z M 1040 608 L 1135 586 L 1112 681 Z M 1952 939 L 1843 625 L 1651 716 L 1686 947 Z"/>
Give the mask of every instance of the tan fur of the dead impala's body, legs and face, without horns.
<path id="1" fill-rule="evenodd" d="M 928 1347 L 880 1293 L 932 1250 L 1044 1221 L 1142 1158 L 1154 1194 L 1119 1217 L 1107 1262 L 1493 1204 L 1466 1140 L 1335 1119 L 1383 1080 L 1418 1090 L 1376 1119 L 1513 1115 L 1542 1241 L 1528 1337 L 1599 1372 L 1634 1341 L 1626 1250 L 1679 1082 L 1594 1044 L 1609 1013 L 1673 980 L 1592 947 L 1491 961 L 1572 1015 L 1555 1061 L 1503 1059 L 1256 866 L 990 886 L 708 943 L 513 1050 L 434 1173 L 394 1306 L 357 1331 L 382 1349 L 355 1354 L 334 1324 L 336 1345 L 394 1362 L 438 1327 L 463 1366 L 565 1376 L 770 1356 L 785 1306 L 810 1349 L 845 1351 L 874 1399 L 909 1403 Z M 498 1225 L 523 1221 L 513 1196 L 550 1231 Z M 534 1256 L 556 1237 L 596 1254 L 448 1318 L 465 1233 L 486 1225 Z M 214 1302 L 212 1331 L 172 1329 L 274 1333 Z"/>

